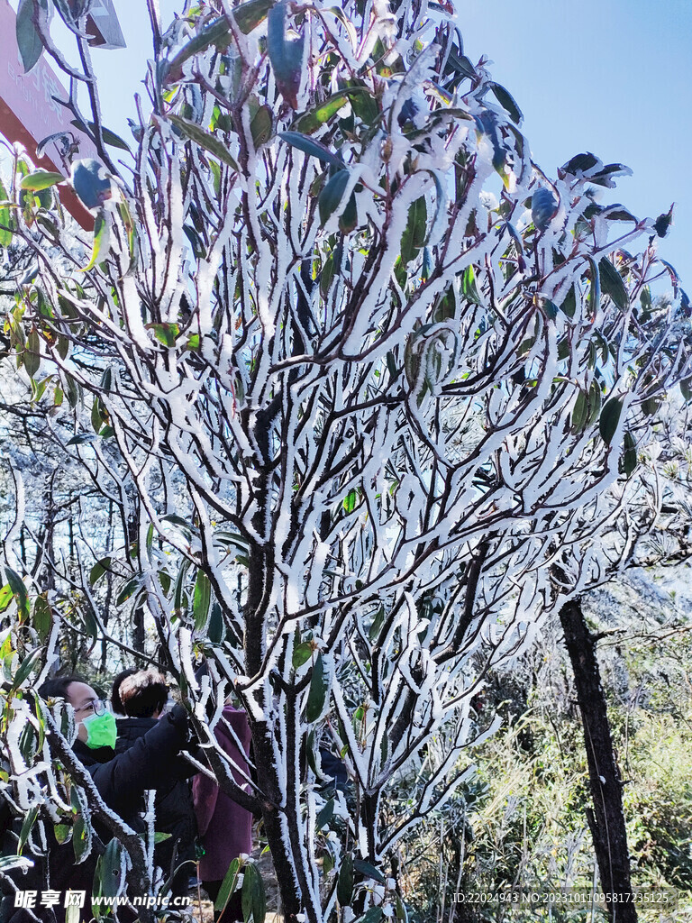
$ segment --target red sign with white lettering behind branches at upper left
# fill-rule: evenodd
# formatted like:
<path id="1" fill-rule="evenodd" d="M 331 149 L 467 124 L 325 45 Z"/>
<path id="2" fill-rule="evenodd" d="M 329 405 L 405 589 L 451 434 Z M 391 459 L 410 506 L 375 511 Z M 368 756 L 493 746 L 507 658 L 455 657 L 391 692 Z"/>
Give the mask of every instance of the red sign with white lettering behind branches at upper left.
<path id="1" fill-rule="evenodd" d="M 24 73 L 17 46 L 16 18 L 7 0 L 0 0 L 0 134 L 12 143 L 23 144 L 37 166 L 66 175 L 66 165 L 54 141 L 46 145 L 42 157 L 36 156 L 36 147 L 43 138 L 69 132 L 78 142 L 78 158 L 98 160 L 98 154 L 89 138 L 70 125 L 73 115 L 53 99 L 67 101 L 67 93 L 45 55 L 42 54 L 30 74 Z M 92 215 L 69 186 L 61 186 L 60 199 L 83 228 L 93 228 Z"/>

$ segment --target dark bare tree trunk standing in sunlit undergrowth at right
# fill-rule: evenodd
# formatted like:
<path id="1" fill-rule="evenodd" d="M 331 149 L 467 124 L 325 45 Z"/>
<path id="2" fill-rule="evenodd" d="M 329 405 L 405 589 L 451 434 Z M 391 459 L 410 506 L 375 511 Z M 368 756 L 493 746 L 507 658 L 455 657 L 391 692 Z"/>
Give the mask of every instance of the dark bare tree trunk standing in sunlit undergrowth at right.
<path id="1" fill-rule="evenodd" d="M 601 887 L 604 893 L 616 895 L 616 901 L 607 904 L 613 923 L 637 923 L 637 910 L 631 902 L 632 884 L 622 806 L 622 780 L 608 724 L 601 673 L 596 659 L 596 641 L 587 628 L 579 600 L 562 607 L 560 622 L 565 632 L 584 727 L 593 800 L 593 807 L 587 809 L 586 814 Z"/>

